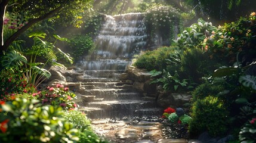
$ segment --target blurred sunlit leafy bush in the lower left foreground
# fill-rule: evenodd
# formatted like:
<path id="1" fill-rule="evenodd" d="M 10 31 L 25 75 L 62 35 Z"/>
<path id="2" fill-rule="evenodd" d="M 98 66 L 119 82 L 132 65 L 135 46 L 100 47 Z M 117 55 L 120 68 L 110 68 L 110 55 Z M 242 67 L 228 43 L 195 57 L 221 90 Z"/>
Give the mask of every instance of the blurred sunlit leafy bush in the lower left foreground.
<path id="1" fill-rule="evenodd" d="M 1 142 L 76 142 L 78 130 L 62 117 L 61 107 L 41 106 L 38 100 L 1 103 L 0 122 L 7 122 Z"/>

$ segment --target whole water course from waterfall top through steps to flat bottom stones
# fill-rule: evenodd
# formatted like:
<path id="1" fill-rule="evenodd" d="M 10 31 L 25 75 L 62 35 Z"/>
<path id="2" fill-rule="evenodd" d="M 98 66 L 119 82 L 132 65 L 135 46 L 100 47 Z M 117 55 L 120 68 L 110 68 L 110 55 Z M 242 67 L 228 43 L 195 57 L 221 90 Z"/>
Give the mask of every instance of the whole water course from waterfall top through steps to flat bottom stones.
<path id="1" fill-rule="evenodd" d="M 162 138 L 162 108 L 119 79 L 132 56 L 146 46 L 143 18 L 143 13 L 107 15 L 95 38 L 97 51 L 77 65 L 83 70 L 84 89 L 79 110 L 92 119 L 95 132 L 113 142 Z"/>

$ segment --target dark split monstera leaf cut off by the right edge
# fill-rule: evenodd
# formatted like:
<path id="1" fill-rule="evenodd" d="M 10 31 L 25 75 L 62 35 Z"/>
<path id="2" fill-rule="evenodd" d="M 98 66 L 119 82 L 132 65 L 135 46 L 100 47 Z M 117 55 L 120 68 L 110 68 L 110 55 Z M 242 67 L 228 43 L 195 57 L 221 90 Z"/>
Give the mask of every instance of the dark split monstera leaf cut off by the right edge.
<path id="1" fill-rule="evenodd" d="M 239 77 L 239 82 L 243 86 L 256 90 L 256 76 L 245 75 Z"/>

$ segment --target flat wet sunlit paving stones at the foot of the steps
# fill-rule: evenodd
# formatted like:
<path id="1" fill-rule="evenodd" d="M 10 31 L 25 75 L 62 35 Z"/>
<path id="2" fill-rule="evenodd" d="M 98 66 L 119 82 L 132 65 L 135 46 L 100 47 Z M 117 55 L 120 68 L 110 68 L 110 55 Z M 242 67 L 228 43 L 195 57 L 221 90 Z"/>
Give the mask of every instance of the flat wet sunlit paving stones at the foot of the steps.
<path id="1" fill-rule="evenodd" d="M 134 117 L 133 119 L 111 120 L 100 119 L 91 122 L 95 133 L 103 136 L 109 142 L 125 142 L 125 143 L 183 143 L 186 139 L 177 139 L 173 130 L 169 130 L 162 125 L 164 123 L 158 117 L 141 119 Z M 170 136 L 170 133 L 174 135 Z"/>

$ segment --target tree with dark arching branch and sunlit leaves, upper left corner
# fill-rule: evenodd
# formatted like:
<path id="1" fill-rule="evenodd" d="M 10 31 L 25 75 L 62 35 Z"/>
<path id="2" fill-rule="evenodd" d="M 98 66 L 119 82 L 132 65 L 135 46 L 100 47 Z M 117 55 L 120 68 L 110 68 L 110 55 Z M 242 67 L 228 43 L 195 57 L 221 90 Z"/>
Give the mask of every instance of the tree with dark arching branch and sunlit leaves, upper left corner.
<path id="1" fill-rule="evenodd" d="M 21 33 L 42 20 L 50 19 L 53 22 L 74 25 L 81 23 L 79 19 L 91 5 L 92 0 L 0 0 L 0 53 L 7 51 L 8 46 Z M 7 12 L 22 15 L 27 22 L 4 41 L 4 17 Z"/>

